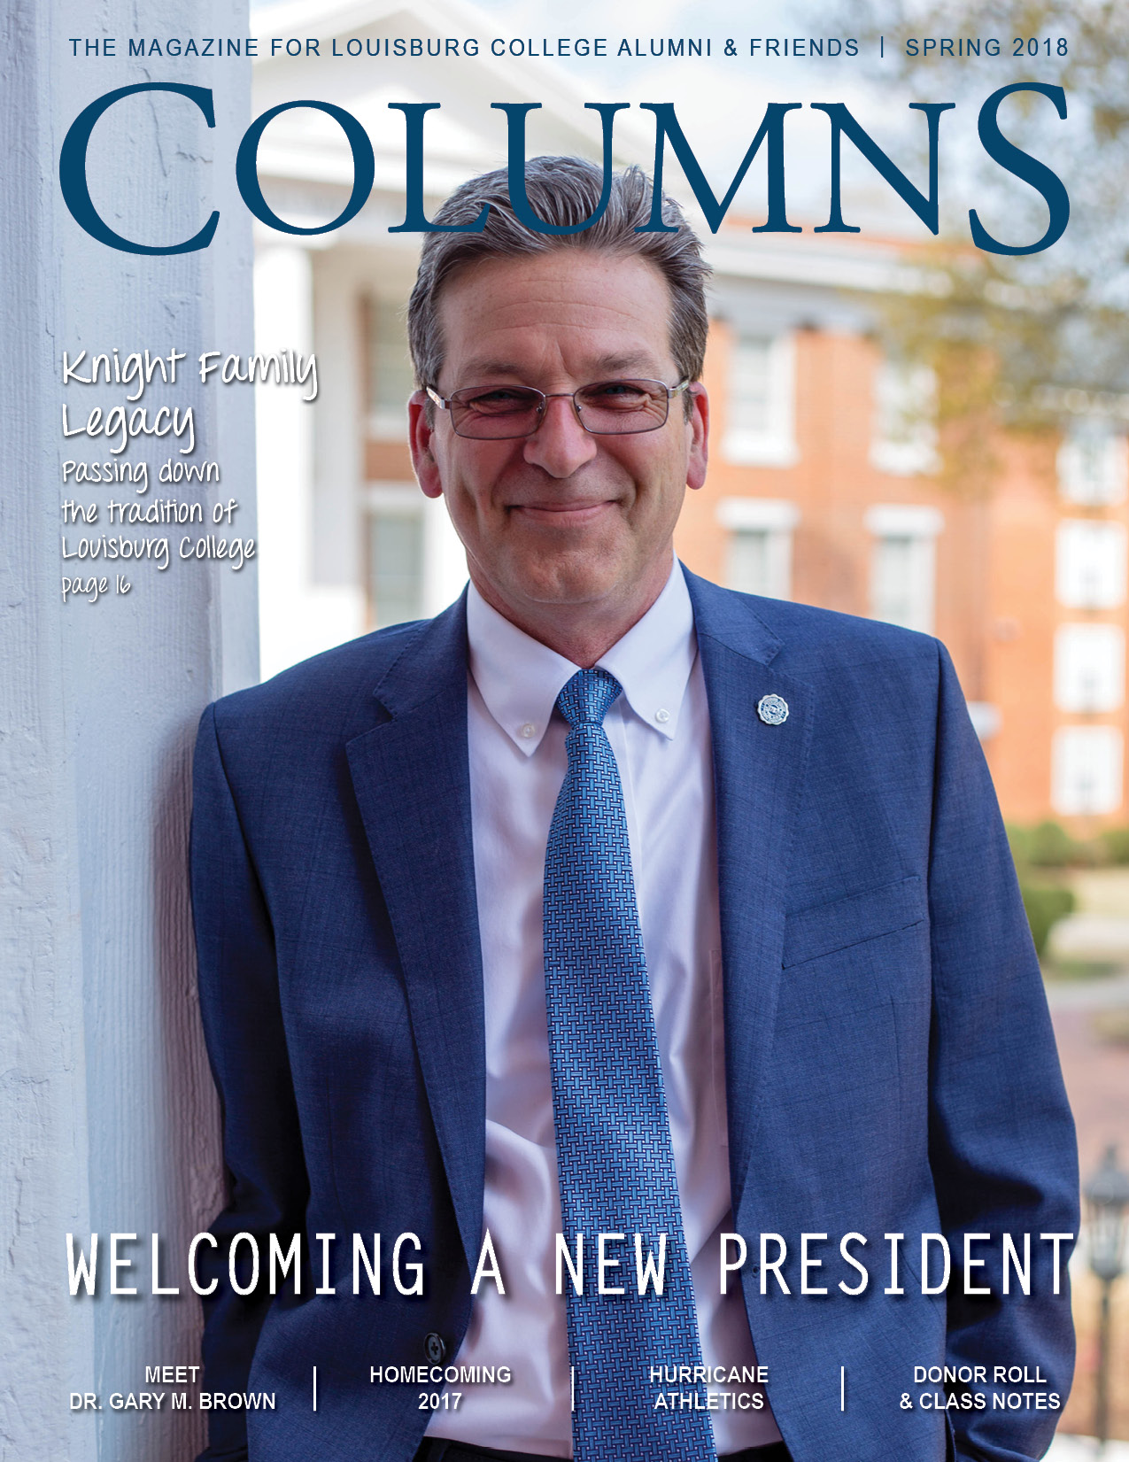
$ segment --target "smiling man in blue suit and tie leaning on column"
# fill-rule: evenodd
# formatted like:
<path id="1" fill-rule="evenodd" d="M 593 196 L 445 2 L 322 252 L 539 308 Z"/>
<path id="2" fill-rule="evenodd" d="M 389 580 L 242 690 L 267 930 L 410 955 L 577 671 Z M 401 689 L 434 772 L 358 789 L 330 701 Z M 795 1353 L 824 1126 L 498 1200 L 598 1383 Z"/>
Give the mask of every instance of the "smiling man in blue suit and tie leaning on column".
<path id="1" fill-rule="evenodd" d="M 200 725 L 206 1458 L 1037 1458 L 1073 1132 L 959 687 L 674 561 L 705 268 L 603 184 L 424 243 L 468 594 Z"/>

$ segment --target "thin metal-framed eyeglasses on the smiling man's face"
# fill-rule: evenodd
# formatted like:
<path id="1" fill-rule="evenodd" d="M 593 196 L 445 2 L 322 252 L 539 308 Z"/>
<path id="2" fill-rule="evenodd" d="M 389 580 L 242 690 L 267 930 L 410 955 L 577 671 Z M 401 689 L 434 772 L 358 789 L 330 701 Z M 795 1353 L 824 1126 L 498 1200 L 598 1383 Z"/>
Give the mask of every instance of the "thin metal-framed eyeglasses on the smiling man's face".
<path id="1" fill-rule="evenodd" d="M 548 395 L 532 386 L 464 386 L 446 399 L 428 386 L 427 395 L 442 411 L 450 412 L 456 436 L 509 442 L 531 437 L 545 418 L 545 406 L 557 396 L 572 401 L 576 420 L 595 437 L 658 431 L 670 415 L 670 398 L 681 395 L 689 385 L 689 380 L 677 386 L 661 380 L 598 380 L 579 390 Z"/>

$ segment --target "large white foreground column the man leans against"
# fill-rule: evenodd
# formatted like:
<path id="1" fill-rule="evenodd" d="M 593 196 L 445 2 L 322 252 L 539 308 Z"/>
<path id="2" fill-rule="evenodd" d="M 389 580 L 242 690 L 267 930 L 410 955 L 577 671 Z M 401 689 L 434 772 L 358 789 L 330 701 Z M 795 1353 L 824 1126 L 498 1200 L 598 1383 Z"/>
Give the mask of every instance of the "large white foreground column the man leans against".
<path id="1" fill-rule="evenodd" d="M 222 537 L 257 537 L 249 387 L 202 386 L 184 373 L 200 351 L 252 346 L 249 216 L 234 154 L 249 120 L 250 69 L 224 63 L 183 79 L 214 88 L 209 130 L 184 98 L 120 102 L 98 123 L 91 190 L 120 232 L 168 243 L 221 213 L 211 247 L 143 257 L 97 243 L 66 211 L 58 151 L 97 96 L 151 77 L 123 56 L 140 20 L 121 4 L 10 0 L 0 51 L 6 208 L 0 219 L 0 320 L 6 342 L 3 547 L 0 548 L 0 1449 L 26 1459 L 184 1462 L 202 1442 L 199 1411 L 139 1418 L 110 1393 L 145 1389 L 145 1366 L 193 1364 L 199 1301 L 183 1256 L 219 1203 L 218 1118 L 195 1003 L 186 854 L 189 759 L 205 703 L 256 675 L 256 570 L 175 561 L 187 529 L 168 532 L 174 561 L 104 564 L 111 592 L 60 595 L 60 534 L 121 532 L 111 497 L 133 485 L 61 482 L 64 458 L 110 461 L 107 443 L 64 443 L 61 404 L 85 418 L 123 387 L 61 386 L 67 349 L 175 348 L 175 387 L 148 404 L 192 406 L 196 452 L 221 481 L 161 487 L 136 501 L 238 499 Z M 151 0 L 149 35 L 247 35 L 246 4 Z M 70 37 L 117 37 L 118 56 L 72 58 Z M 173 64 L 161 76 L 177 76 Z M 155 477 L 173 439 L 132 444 Z M 63 529 L 63 499 L 97 503 L 98 522 Z M 124 570 L 129 594 L 113 592 Z M 95 573 L 95 566 L 89 567 Z M 110 1231 L 136 1232 L 129 1282 L 113 1297 Z M 97 1298 L 70 1298 L 67 1232 L 101 1234 Z M 149 1295 L 149 1235 L 167 1284 Z M 72 1414 L 70 1392 L 102 1411 Z"/>

